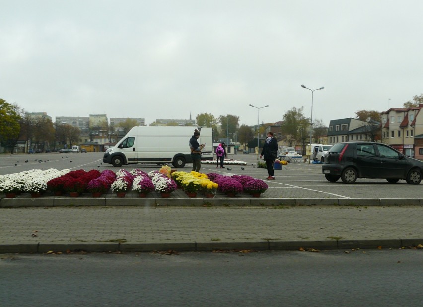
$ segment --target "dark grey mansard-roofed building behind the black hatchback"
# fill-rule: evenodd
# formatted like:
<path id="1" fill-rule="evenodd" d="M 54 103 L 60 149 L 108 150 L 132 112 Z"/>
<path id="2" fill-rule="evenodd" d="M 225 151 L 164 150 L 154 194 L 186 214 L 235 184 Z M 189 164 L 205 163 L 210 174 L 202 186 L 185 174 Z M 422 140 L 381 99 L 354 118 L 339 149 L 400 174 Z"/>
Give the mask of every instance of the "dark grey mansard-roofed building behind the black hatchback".
<path id="1" fill-rule="evenodd" d="M 354 118 L 331 120 L 327 140 L 329 145 L 351 141 L 380 141 L 380 123 Z"/>

